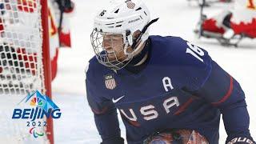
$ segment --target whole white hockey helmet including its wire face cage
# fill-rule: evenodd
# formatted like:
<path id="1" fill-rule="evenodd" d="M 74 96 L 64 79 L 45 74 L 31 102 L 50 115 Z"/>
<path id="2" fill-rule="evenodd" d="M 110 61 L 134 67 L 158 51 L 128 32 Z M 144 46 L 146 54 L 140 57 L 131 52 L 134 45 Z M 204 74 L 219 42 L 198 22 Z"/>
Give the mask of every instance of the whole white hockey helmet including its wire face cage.
<path id="1" fill-rule="evenodd" d="M 124 63 L 129 62 L 134 53 L 137 51 L 137 42 L 143 43 L 149 37 L 147 29 L 150 22 L 150 12 L 146 5 L 141 0 L 114 0 L 110 2 L 110 6 L 103 8 L 94 18 L 94 31 L 91 33 L 91 44 L 94 48 L 98 62 L 104 66 L 118 70 L 124 66 Z M 146 27 L 146 28 L 145 28 Z M 144 29 L 144 30 L 143 30 Z M 141 35 L 136 41 L 133 40 L 135 31 L 140 30 Z M 119 62 L 118 58 L 115 61 L 110 61 L 107 58 L 107 53 L 104 51 L 102 42 L 102 34 L 122 34 L 124 46 L 123 50 L 126 54 L 126 62 Z M 127 47 L 132 47 L 133 52 L 127 52 Z"/>

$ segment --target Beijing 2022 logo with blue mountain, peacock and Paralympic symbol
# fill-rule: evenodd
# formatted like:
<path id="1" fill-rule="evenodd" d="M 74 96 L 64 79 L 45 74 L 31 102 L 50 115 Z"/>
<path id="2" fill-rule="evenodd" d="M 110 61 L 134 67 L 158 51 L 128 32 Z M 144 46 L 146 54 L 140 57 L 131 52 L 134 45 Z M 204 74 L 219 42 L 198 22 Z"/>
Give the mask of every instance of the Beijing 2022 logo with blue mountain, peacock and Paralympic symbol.
<path id="1" fill-rule="evenodd" d="M 29 133 L 34 138 L 45 135 L 42 127 L 47 126 L 46 118 L 61 118 L 62 112 L 58 106 L 46 95 L 42 95 L 38 90 L 33 94 L 28 94 L 18 105 L 25 104 L 29 108 L 16 108 L 12 119 L 27 119 L 26 126 Z M 44 118 L 46 117 L 46 118 Z"/>

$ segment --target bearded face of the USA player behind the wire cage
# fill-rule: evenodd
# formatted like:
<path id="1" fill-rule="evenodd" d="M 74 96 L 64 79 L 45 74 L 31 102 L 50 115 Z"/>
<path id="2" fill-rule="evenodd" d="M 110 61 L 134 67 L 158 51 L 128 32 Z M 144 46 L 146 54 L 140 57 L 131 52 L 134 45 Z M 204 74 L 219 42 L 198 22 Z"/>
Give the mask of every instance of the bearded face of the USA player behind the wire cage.
<path id="1" fill-rule="evenodd" d="M 122 34 L 104 34 L 102 45 L 106 50 L 109 61 L 124 61 L 127 58 L 123 51 Z"/>

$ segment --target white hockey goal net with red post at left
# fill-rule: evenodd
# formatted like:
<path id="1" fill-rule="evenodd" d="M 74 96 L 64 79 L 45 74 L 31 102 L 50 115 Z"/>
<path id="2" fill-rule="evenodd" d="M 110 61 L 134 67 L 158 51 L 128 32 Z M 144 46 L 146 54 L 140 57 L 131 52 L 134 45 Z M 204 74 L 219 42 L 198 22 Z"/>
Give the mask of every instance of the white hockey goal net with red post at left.
<path id="1" fill-rule="evenodd" d="M 27 94 L 51 95 L 47 10 L 47 0 L 0 0 L 1 143 L 54 142 L 50 118 L 46 126 L 37 121 L 38 135 L 29 120 L 12 118 Z"/>

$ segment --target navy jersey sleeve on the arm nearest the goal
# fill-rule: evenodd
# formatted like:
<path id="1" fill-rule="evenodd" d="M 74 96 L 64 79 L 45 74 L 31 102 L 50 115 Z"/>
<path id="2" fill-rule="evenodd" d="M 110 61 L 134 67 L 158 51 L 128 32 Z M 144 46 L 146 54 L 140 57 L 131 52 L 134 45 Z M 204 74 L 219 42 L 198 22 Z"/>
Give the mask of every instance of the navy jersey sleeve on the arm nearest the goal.
<path id="1" fill-rule="evenodd" d="M 118 114 L 113 102 L 103 97 L 100 87 L 94 82 L 94 70 L 86 71 L 86 97 L 94 113 L 94 122 L 101 135 L 102 144 L 122 144 Z"/>

